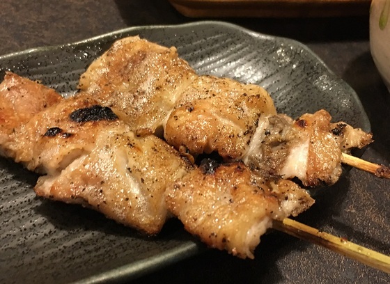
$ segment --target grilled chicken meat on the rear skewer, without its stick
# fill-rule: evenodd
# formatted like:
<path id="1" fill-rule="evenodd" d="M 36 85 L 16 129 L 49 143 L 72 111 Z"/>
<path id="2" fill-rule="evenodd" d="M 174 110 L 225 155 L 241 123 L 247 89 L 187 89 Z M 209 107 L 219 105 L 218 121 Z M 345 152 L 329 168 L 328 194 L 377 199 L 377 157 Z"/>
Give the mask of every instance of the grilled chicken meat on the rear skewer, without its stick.
<path id="1" fill-rule="evenodd" d="M 260 175 L 297 177 L 310 187 L 336 182 L 343 153 L 372 141 L 361 129 L 331 123 L 327 111 L 296 121 L 278 114 L 260 86 L 198 76 L 174 47 L 137 36 L 116 41 L 94 61 L 79 90 L 121 111 L 139 134 L 164 131 L 182 154 L 217 152 Z"/>

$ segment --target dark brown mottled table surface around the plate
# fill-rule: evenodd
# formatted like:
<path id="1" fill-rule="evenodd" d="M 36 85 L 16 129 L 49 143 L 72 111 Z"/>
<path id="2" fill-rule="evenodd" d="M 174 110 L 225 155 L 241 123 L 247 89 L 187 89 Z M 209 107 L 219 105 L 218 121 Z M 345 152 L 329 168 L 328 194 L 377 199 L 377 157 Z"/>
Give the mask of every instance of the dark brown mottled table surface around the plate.
<path id="1" fill-rule="evenodd" d="M 91 38 L 127 26 L 194 22 L 164 0 L 2 0 L 0 54 Z M 227 18 L 253 31 L 306 44 L 356 90 L 375 143 L 363 158 L 390 164 L 390 95 L 370 56 L 368 11 L 359 17 Z M 390 255 L 390 180 L 352 169 L 299 221 Z M 1 218 L 1 214 L 0 214 Z M 23 269 L 21 267 L 21 269 Z M 272 233 L 255 260 L 206 250 L 135 283 L 389 283 L 389 275 L 304 241 Z"/>

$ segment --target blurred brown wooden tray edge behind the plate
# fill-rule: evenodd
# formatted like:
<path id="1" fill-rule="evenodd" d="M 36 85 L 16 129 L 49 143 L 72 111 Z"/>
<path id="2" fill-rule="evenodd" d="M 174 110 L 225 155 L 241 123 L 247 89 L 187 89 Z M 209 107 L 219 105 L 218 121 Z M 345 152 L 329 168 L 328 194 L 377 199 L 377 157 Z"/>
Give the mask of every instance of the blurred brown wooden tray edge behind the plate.
<path id="1" fill-rule="evenodd" d="M 367 15 L 370 0 L 169 0 L 186 17 L 343 17 Z"/>

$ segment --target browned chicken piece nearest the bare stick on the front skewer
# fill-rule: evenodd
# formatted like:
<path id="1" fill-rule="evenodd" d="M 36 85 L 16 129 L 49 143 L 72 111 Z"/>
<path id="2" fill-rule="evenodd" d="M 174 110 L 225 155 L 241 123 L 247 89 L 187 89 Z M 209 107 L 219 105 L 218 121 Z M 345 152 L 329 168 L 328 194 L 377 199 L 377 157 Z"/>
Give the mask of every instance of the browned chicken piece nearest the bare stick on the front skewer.
<path id="1" fill-rule="evenodd" d="M 267 182 L 241 162 L 207 161 L 166 191 L 169 210 L 212 248 L 253 258 L 272 220 L 299 214 L 313 204 L 293 182 Z"/>

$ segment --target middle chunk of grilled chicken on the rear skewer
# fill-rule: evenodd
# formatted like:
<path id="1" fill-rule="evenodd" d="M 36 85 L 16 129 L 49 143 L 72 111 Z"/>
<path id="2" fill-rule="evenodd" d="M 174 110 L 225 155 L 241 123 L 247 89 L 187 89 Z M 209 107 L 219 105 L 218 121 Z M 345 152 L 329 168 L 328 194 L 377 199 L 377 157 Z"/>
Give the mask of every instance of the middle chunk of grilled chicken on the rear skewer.
<path id="1" fill-rule="evenodd" d="M 276 114 L 276 109 L 260 86 L 201 76 L 178 99 L 164 137 L 184 152 L 215 151 L 226 159 L 236 159 L 247 150 L 262 113 Z"/>

